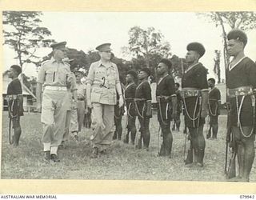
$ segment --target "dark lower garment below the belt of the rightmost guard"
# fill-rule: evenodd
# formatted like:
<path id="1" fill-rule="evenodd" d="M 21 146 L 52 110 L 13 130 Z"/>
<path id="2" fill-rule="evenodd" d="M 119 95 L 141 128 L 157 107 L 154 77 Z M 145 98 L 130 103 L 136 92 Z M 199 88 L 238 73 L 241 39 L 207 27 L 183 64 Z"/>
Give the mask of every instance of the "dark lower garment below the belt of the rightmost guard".
<path id="1" fill-rule="evenodd" d="M 238 104 L 236 98 L 230 98 L 230 122 L 231 126 L 238 126 L 238 109 L 241 106 L 242 96 L 238 96 Z M 240 113 L 241 126 L 253 126 L 254 123 L 254 109 L 252 106 L 252 99 L 247 95 L 242 102 L 242 109 Z"/>

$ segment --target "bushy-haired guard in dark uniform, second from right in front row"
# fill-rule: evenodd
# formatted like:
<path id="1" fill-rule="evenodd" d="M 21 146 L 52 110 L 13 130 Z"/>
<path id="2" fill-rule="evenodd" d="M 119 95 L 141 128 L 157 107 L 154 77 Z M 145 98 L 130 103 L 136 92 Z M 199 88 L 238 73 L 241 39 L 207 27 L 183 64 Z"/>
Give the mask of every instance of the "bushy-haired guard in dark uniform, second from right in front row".
<path id="1" fill-rule="evenodd" d="M 207 70 L 199 59 L 205 54 L 201 43 L 192 42 L 186 46 L 186 62 L 189 67 L 182 76 L 182 98 L 185 109 L 185 122 L 190 132 L 192 151 L 188 154 L 186 164 L 194 162 L 203 166 L 206 142 L 203 136 L 203 125 L 207 115 L 208 83 Z"/>

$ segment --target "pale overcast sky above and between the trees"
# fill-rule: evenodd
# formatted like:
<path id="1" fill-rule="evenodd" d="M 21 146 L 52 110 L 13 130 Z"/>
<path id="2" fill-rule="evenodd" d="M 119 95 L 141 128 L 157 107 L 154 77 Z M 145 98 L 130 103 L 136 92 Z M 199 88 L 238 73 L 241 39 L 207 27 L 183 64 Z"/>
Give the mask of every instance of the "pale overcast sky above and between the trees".
<path id="1" fill-rule="evenodd" d="M 208 78 L 214 77 L 214 50 L 222 50 L 222 30 L 209 19 L 198 18 L 195 13 L 106 13 L 106 12 L 43 12 L 41 26 L 51 31 L 51 38 L 57 42 L 66 41 L 67 46 L 87 52 L 103 42 L 112 43 L 111 48 L 118 58 L 123 58 L 121 47 L 128 46 L 128 30 L 132 26 L 160 30 L 170 42 L 172 54 L 182 58 L 186 55 L 189 42 L 202 42 L 206 54 L 201 62 L 209 69 Z M 227 29 L 228 31 L 228 29 Z M 247 32 L 246 55 L 256 60 L 256 30 Z M 38 55 L 44 56 L 50 49 L 42 49 Z M 4 70 L 18 64 L 13 51 L 4 46 Z M 222 71 L 223 71 L 223 62 Z M 37 76 L 34 66 L 25 65 L 25 74 Z M 222 78 L 224 74 L 222 73 Z"/>

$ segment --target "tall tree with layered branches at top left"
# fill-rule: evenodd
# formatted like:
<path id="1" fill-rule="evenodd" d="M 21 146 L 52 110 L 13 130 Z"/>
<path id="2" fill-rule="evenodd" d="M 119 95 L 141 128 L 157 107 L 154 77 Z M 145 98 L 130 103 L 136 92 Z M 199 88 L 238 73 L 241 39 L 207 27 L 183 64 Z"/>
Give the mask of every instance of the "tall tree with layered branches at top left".
<path id="1" fill-rule="evenodd" d="M 46 39 L 50 36 L 50 30 L 39 26 L 41 12 L 34 11 L 3 11 L 3 36 L 4 44 L 14 49 L 19 65 L 24 63 L 37 64 L 38 56 L 36 51 L 39 47 L 49 46 L 52 39 Z"/>

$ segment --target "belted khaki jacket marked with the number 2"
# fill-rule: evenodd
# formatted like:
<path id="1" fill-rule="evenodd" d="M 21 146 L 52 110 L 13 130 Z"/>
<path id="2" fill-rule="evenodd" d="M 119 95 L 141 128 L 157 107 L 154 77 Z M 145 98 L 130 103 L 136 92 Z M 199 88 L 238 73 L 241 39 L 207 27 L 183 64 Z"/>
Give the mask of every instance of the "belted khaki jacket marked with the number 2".
<path id="1" fill-rule="evenodd" d="M 117 103 L 116 85 L 118 83 L 120 83 L 118 67 L 113 62 L 110 62 L 110 66 L 104 66 L 101 61 L 90 65 L 86 84 L 92 86 L 90 93 L 92 103 L 115 105 Z"/>

